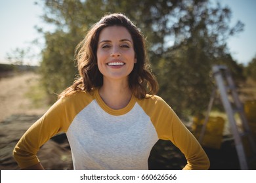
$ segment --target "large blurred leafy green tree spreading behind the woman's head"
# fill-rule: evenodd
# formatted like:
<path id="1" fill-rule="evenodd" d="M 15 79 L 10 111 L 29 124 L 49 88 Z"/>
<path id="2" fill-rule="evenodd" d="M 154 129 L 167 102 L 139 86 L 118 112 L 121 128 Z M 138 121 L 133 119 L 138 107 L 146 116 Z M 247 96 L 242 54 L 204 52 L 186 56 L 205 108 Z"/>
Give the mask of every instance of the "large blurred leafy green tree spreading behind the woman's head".
<path id="1" fill-rule="evenodd" d="M 52 97 L 72 84 L 77 73 L 75 46 L 106 12 L 123 12 L 140 27 L 160 82 L 159 95 L 178 114 L 207 108 L 213 65 L 228 65 L 240 78 L 241 66 L 230 56 L 226 39 L 244 25 L 238 22 L 230 27 L 231 11 L 220 4 L 208 0 L 47 0 L 44 7 L 45 22 L 56 27 L 53 32 L 40 29 L 46 41 L 43 86 Z"/>

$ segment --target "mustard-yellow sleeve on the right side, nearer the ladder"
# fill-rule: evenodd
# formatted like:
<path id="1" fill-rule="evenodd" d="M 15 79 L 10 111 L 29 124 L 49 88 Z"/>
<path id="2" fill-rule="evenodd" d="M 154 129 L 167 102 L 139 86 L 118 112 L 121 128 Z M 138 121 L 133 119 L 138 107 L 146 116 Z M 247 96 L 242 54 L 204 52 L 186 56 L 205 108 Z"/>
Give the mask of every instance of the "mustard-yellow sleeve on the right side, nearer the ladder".
<path id="1" fill-rule="evenodd" d="M 161 97 L 154 96 L 146 100 L 150 100 L 147 105 L 150 107 L 146 107 L 143 102 L 141 105 L 150 116 L 159 139 L 173 142 L 187 159 L 183 169 L 209 169 L 209 159 L 205 151 L 173 109 Z"/>

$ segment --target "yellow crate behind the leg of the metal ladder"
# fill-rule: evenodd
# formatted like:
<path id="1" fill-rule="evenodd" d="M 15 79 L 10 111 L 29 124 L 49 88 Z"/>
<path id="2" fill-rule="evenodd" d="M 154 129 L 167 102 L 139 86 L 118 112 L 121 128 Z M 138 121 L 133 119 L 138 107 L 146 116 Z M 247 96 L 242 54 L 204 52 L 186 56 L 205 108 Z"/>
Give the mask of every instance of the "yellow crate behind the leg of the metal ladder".
<path id="1" fill-rule="evenodd" d="M 192 125 L 192 133 L 199 139 L 205 119 L 195 117 Z M 224 119 L 210 116 L 202 139 L 202 146 L 208 148 L 221 148 L 223 141 Z"/>

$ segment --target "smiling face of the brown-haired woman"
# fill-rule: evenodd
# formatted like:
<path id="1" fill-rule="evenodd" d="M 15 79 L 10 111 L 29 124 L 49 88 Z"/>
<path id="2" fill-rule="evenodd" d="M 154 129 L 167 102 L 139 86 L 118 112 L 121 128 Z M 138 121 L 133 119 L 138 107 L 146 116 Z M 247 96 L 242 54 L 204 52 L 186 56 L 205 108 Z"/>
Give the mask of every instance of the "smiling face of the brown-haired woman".
<path id="1" fill-rule="evenodd" d="M 104 79 L 127 80 L 136 62 L 133 39 L 125 27 L 114 25 L 102 29 L 98 39 L 97 65 Z"/>

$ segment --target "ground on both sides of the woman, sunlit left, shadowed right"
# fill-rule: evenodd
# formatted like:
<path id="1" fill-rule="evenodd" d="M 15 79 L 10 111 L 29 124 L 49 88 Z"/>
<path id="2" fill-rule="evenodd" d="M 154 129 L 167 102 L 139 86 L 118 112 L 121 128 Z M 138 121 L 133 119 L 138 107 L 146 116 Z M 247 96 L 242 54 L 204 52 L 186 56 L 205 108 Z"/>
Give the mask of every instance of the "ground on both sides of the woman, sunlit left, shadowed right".
<path id="1" fill-rule="evenodd" d="M 0 169 L 19 169 L 12 158 L 12 150 L 23 133 L 47 110 L 47 106 L 35 105 L 28 97 L 39 76 L 22 73 L 0 78 Z M 29 94 L 30 95 L 30 94 Z M 223 141 L 221 148 L 206 148 L 211 161 L 210 169 L 240 169 L 234 141 Z M 73 169 L 70 146 L 66 135 L 57 135 L 39 151 L 39 159 L 46 169 Z M 159 141 L 150 154 L 150 169 L 181 169 L 186 159 L 167 141 Z"/>

